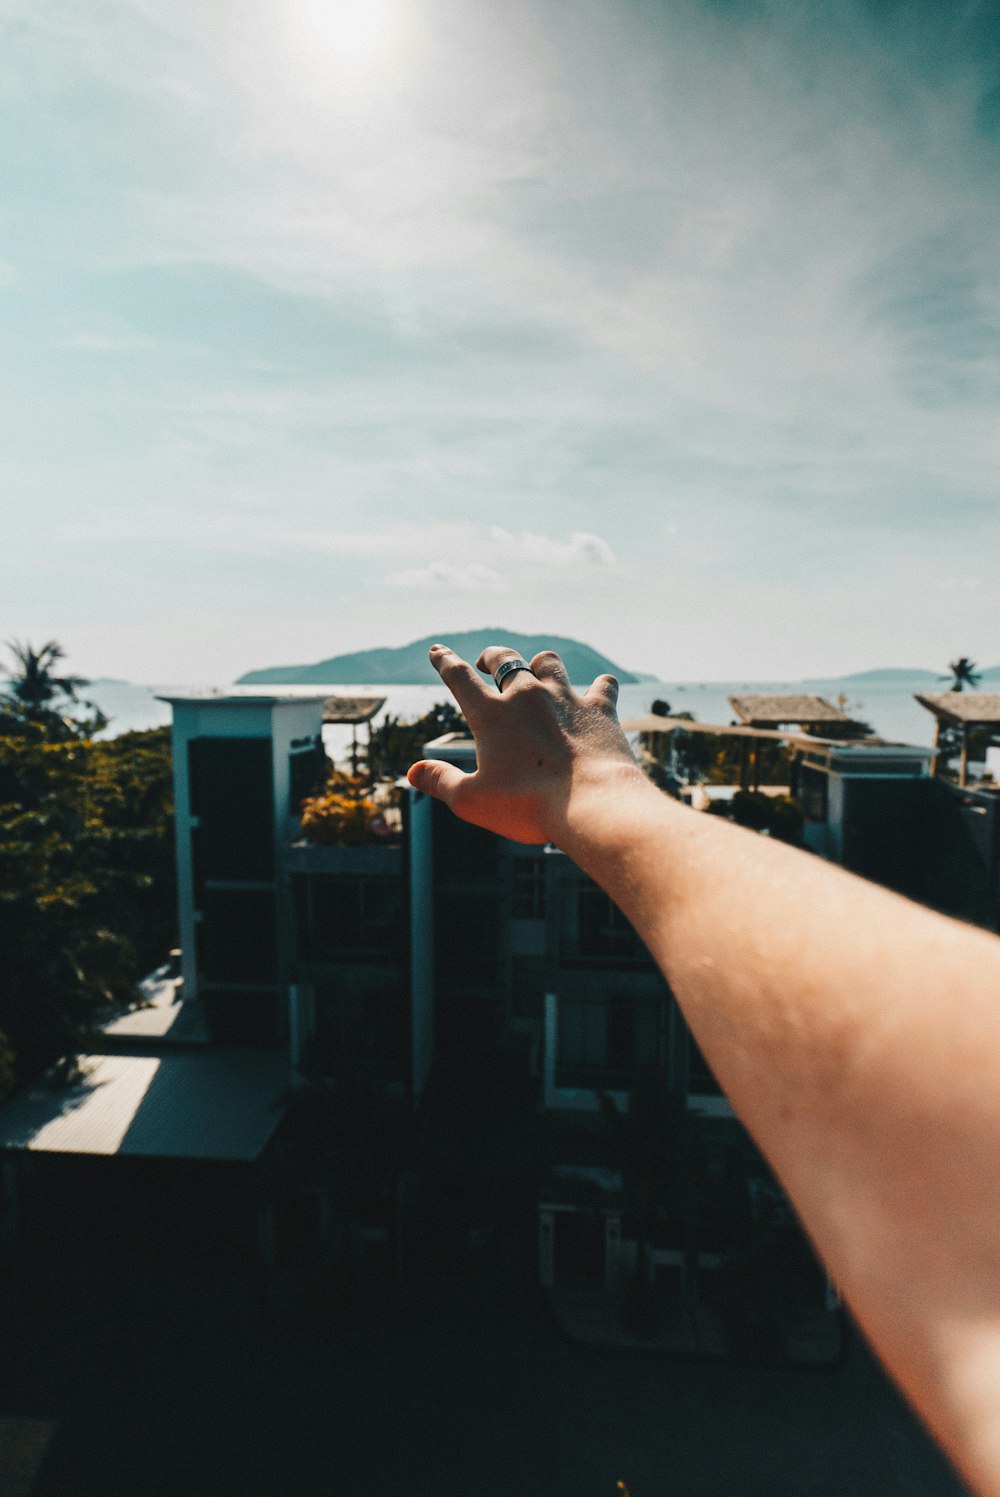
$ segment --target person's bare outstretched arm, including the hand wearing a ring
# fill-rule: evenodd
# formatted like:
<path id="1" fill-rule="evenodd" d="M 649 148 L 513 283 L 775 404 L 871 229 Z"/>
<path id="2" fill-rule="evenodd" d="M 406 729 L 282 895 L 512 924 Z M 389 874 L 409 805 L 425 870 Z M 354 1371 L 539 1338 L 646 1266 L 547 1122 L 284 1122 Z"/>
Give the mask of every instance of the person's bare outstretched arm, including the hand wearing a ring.
<path id="1" fill-rule="evenodd" d="M 612 677 L 581 696 L 545 653 L 499 695 L 443 645 L 431 662 L 478 769 L 410 783 L 555 843 L 615 900 L 885 1365 L 1000 1497 L 1000 940 L 669 799 Z"/>

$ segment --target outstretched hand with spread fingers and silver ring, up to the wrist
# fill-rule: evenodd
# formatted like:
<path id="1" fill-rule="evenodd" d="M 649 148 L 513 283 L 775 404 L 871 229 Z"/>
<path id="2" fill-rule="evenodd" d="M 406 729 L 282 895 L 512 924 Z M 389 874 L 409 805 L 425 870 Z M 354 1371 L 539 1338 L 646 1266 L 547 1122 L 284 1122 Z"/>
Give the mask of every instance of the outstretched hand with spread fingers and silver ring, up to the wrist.
<path id="1" fill-rule="evenodd" d="M 515 656 L 490 645 L 476 665 L 493 675 Z M 478 766 L 464 774 L 445 760 L 421 759 L 409 780 L 463 820 L 512 841 L 558 844 L 581 798 L 600 793 L 609 778 L 642 778 L 618 725 L 612 675 L 599 675 L 581 696 L 560 657 L 545 650 L 497 692 L 446 645 L 433 645 L 430 659 L 466 714 Z"/>

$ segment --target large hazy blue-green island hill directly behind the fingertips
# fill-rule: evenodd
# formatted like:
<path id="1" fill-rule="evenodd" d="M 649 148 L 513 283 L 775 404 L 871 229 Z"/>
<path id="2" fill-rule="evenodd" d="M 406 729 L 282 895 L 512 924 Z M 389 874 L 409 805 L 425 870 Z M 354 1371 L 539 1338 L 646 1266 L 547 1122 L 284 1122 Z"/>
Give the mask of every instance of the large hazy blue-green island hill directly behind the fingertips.
<path id="1" fill-rule="evenodd" d="M 476 662 L 485 645 L 507 644 L 519 650 L 525 660 L 540 650 L 557 650 L 572 681 L 588 686 L 596 675 L 611 671 L 623 686 L 636 677 L 623 671 L 606 656 L 558 635 L 518 635 L 512 629 L 470 629 L 463 633 L 428 635 L 397 650 L 361 650 L 356 654 L 331 656 L 316 665 L 275 665 L 262 671 L 247 671 L 237 686 L 430 686 L 437 674 L 427 659 L 433 644 L 451 645 L 466 660 Z"/>

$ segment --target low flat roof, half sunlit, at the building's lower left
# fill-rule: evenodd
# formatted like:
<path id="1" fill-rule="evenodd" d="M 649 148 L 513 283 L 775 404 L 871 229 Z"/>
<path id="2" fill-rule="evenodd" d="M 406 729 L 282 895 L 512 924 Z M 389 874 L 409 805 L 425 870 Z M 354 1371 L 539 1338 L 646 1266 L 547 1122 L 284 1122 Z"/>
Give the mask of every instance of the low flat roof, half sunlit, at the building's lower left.
<path id="1" fill-rule="evenodd" d="M 36 1085 L 0 1111 L 0 1150 L 250 1163 L 284 1115 L 272 1049 L 78 1055 L 79 1081 Z"/>

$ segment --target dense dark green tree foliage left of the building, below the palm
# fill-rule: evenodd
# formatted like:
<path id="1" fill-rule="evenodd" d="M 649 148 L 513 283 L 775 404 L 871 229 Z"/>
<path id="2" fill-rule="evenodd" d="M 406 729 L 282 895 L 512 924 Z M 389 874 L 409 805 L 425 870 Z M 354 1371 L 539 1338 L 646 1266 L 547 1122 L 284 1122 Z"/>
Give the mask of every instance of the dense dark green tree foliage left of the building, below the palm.
<path id="1" fill-rule="evenodd" d="M 168 729 L 0 737 L 0 1087 L 63 1060 L 175 940 Z M 52 738 L 46 738 L 51 728 Z"/>

